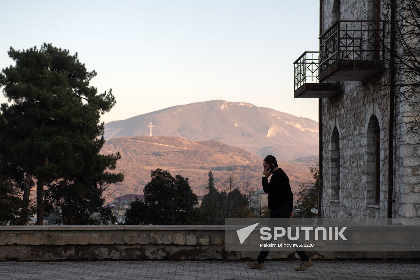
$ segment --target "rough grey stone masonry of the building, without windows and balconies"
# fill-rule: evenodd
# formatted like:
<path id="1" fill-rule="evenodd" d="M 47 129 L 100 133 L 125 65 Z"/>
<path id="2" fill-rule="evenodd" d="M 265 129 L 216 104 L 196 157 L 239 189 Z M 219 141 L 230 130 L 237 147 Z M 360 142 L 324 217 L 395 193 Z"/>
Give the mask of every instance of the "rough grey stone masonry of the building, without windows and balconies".
<path id="1" fill-rule="evenodd" d="M 334 2 L 323 0 L 323 31 L 332 25 Z M 341 20 L 366 19 L 372 0 L 341 1 Z M 387 12 L 386 10 L 382 10 Z M 389 44 L 389 26 L 385 26 L 385 44 Z M 387 62 L 387 58 L 386 58 Z M 367 82 L 342 82 L 344 92 L 323 99 L 323 217 L 387 217 L 388 202 L 388 81 L 389 72 Z M 397 77 L 398 82 L 399 77 Z M 381 86 L 382 85 L 382 86 Z M 397 92 L 398 93 L 398 92 Z M 420 145 L 400 125 L 420 111 L 402 98 L 396 100 L 394 125 L 393 217 L 420 219 Z M 418 101 L 418 100 L 417 100 Z M 380 203 L 373 203 L 372 115 L 380 128 Z M 333 129 L 339 134 L 339 195 L 336 194 L 336 143 Z"/>

